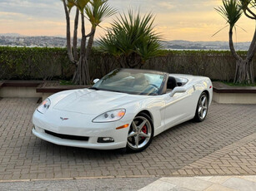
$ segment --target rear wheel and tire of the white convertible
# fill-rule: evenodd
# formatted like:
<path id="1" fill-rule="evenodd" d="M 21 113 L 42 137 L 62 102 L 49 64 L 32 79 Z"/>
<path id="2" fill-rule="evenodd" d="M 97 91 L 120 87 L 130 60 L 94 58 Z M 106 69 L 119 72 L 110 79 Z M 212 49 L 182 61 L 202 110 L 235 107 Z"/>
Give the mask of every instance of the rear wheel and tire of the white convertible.
<path id="1" fill-rule="evenodd" d="M 206 115 L 208 113 L 208 95 L 206 92 L 203 92 L 198 99 L 197 110 L 195 111 L 195 115 L 193 120 L 196 122 L 202 122 L 205 120 Z"/>

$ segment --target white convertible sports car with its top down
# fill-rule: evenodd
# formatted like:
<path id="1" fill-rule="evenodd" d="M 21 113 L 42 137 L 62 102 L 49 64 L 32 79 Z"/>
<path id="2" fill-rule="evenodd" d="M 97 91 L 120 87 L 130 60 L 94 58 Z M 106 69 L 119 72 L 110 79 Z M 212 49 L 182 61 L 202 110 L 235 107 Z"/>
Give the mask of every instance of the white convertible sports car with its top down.
<path id="1" fill-rule="evenodd" d="M 146 149 L 186 120 L 203 121 L 213 97 L 208 77 L 117 69 L 88 89 L 62 91 L 38 106 L 33 134 L 89 149 Z"/>

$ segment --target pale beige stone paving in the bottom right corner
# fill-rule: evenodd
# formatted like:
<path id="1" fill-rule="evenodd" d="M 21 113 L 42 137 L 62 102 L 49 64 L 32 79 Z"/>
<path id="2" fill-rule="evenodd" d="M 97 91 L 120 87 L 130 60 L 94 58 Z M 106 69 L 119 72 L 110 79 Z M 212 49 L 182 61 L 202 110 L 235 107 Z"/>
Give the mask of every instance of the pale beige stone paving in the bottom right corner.
<path id="1" fill-rule="evenodd" d="M 255 176 L 161 178 L 139 191 L 255 191 Z"/>

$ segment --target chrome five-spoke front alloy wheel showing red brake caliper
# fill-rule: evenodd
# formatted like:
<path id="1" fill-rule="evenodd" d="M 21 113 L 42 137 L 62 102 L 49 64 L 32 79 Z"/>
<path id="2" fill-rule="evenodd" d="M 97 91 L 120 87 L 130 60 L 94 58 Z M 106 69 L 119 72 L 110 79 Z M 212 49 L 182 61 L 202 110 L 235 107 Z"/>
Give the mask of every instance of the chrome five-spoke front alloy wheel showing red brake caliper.
<path id="1" fill-rule="evenodd" d="M 148 144 L 151 139 L 152 125 L 143 116 L 136 116 L 128 132 L 128 145 L 133 149 L 141 149 Z"/>

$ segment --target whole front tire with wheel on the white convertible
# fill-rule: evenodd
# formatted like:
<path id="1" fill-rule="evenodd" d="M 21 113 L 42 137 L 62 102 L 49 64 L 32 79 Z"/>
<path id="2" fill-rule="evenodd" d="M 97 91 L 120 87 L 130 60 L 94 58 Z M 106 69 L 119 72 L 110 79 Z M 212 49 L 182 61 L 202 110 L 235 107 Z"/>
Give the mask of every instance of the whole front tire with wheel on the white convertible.
<path id="1" fill-rule="evenodd" d="M 153 122 L 144 113 L 134 117 L 128 131 L 126 149 L 128 152 L 141 152 L 147 149 L 153 140 Z"/>

